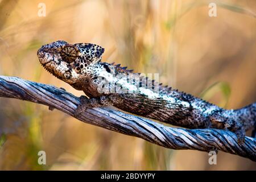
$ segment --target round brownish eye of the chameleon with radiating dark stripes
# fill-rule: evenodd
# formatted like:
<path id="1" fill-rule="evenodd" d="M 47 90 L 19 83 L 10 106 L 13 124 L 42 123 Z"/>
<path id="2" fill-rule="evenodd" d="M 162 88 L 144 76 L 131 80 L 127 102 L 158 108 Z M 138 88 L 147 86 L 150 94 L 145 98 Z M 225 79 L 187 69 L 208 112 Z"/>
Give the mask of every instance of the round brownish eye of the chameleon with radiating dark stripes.
<path id="1" fill-rule="evenodd" d="M 79 56 L 79 49 L 71 44 L 65 45 L 61 47 L 60 56 L 67 63 L 73 63 Z"/>

